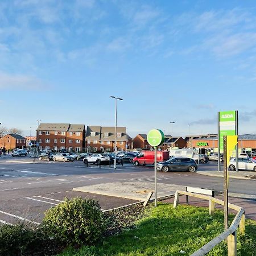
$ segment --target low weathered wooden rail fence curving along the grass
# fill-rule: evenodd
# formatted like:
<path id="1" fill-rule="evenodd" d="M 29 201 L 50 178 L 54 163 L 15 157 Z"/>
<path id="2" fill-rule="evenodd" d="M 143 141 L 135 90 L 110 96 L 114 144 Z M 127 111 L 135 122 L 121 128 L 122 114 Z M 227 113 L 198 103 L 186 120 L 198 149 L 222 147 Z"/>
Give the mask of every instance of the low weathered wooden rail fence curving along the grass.
<path id="1" fill-rule="evenodd" d="M 224 201 L 220 199 L 216 199 L 211 196 L 177 190 L 175 192 L 174 208 L 176 208 L 177 205 L 179 204 L 180 195 L 193 196 L 200 199 L 209 200 L 210 215 L 214 214 L 215 203 L 224 205 Z M 245 234 L 245 210 L 241 207 L 238 207 L 237 205 L 230 204 L 230 203 L 228 204 L 228 207 L 230 209 L 237 210 L 236 217 L 232 221 L 232 224 L 230 225 L 230 227 L 224 232 L 222 232 L 219 236 L 213 238 L 212 241 L 208 242 L 199 250 L 195 251 L 195 253 L 191 254 L 191 256 L 201 256 L 209 253 L 209 251 L 212 250 L 214 246 L 226 240 L 226 238 L 228 238 L 228 256 L 237 255 L 237 228 L 239 226 L 240 233 Z"/>

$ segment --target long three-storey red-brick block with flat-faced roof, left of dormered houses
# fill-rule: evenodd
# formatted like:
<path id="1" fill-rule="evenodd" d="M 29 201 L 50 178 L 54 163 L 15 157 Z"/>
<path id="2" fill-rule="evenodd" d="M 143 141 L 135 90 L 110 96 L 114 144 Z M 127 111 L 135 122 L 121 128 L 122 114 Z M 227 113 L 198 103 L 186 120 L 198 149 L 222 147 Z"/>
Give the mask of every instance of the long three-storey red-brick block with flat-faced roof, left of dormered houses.
<path id="1" fill-rule="evenodd" d="M 39 150 L 81 152 L 85 147 L 85 126 L 71 123 L 40 123 L 36 130 Z"/>

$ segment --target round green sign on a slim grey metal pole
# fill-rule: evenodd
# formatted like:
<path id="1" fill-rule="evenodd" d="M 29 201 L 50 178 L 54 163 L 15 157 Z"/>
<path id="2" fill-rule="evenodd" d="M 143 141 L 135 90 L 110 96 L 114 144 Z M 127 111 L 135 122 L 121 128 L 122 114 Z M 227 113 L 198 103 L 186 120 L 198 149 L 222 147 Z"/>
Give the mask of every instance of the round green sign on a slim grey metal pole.
<path id="1" fill-rule="evenodd" d="M 161 130 L 153 129 L 149 131 L 147 134 L 147 142 L 150 144 L 150 146 L 155 148 L 155 207 L 157 202 L 157 196 L 156 196 L 156 150 L 157 147 L 163 144 L 164 142 L 164 133 Z"/>

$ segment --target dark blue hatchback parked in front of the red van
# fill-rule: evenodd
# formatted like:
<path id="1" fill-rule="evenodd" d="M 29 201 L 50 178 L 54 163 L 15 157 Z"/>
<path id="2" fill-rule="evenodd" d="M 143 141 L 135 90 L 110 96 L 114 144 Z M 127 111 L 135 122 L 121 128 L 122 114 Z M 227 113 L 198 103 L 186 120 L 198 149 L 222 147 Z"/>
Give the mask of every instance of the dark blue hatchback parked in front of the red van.
<path id="1" fill-rule="evenodd" d="M 197 164 L 192 158 L 172 158 L 165 162 L 156 164 L 156 170 L 168 172 L 177 170 L 186 170 L 189 172 L 196 172 Z"/>

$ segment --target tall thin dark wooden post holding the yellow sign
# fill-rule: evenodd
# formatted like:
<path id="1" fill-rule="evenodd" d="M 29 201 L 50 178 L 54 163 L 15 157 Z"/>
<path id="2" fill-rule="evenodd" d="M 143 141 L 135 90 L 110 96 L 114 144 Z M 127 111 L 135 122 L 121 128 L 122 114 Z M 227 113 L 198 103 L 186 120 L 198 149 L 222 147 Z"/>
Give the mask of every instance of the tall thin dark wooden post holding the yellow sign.
<path id="1" fill-rule="evenodd" d="M 224 147 L 224 227 L 225 230 L 229 228 L 229 208 L 228 208 L 228 166 L 227 166 L 227 148 L 226 148 L 226 136 L 223 137 L 223 147 Z"/>

